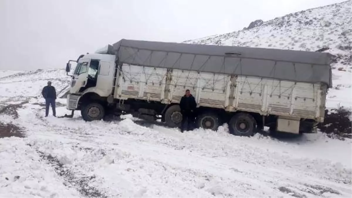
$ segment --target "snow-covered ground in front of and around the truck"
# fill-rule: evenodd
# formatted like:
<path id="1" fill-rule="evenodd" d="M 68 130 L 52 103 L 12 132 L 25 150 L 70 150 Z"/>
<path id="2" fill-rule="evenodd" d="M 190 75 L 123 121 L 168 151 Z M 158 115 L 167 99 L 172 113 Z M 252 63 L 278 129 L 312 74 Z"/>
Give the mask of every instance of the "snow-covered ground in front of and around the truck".
<path id="1" fill-rule="evenodd" d="M 334 82 L 347 84 L 346 74 Z M 226 126 L 181 134 L 128 115 L 45 118 L 40 90 L 48 80 L 65 88 L 63 70 L 2 76 L 0 112 L 11 111 L 0 123 L 26 137 L 0 139 L 0 197 L 352 197 L 352 140 L 244 138 Z M 341 101 L 343 89 L 328 103 Z M 57 103 L 57 115 L 70 113 L 65 99 Z"/>

